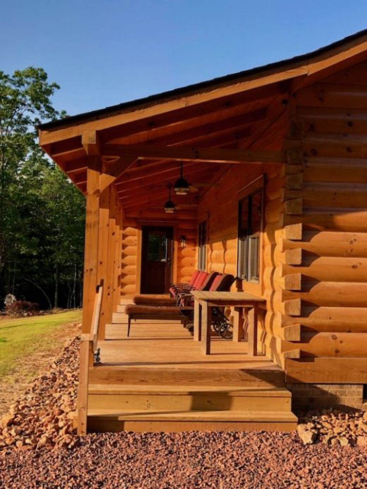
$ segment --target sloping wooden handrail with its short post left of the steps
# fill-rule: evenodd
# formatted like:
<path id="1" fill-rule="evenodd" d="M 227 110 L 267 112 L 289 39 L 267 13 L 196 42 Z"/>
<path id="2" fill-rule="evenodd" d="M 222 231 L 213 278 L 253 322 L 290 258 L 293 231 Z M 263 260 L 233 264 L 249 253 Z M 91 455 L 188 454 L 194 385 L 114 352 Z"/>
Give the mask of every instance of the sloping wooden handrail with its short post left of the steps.
<path id="1" fill-rule="evenodd" d="M 79 367 L 79 392 L 78 392 L 78 435 L 87 434 L 88 419 L 88 380 L 89 369 L 94 363 L 94 352 L 97 349 L 99 317 L 101 312 L 103 294 L 103 280 L 97 286 L 92 324 L 90 333 L 81 335 L 80 341 L 80 367 Z"/>

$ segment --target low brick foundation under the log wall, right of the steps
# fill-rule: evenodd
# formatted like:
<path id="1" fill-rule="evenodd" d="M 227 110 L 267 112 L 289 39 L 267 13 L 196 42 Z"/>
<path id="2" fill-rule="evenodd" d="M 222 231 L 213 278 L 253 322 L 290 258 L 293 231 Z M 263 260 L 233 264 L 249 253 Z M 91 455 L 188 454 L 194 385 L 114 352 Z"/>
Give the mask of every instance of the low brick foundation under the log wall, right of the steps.
<path id="1" fill-rule="evenodd" d="M 287 384 L 292 392 L 292 409 L 311 410 L 326 407 L 362 409 L 363 384 Z"/>

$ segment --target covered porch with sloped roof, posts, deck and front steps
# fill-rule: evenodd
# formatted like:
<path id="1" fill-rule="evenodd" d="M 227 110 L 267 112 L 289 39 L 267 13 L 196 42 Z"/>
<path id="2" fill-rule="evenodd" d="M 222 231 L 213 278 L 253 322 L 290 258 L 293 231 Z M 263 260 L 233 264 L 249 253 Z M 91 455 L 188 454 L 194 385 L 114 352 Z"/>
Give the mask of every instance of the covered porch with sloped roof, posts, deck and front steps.
<path id="1" fill-rule="evenodd" d="M 223 79 L 215 89 L 203 84 L 43 129 L 42 147 L 87 198 L 79 433 L 295 428 L 286 355 L 273 354 L 279 325 L 266 321 L 273 314 L 266 272 L 274 267 L 267 251 L 282 228 L 281 168 L 299 160 L 298 151 L 283 148 L 291 113 L 287 76 Z M 184 192 L 176 192 L 178 178 Z M 297 188 L 298 180 L 289 184 Z M 250 210 L 252 195 L 257 204 Z M 174 212 L 167 212 L 167 200 Z M 246 264 L 238 256 L 245 207 L 256 214 L 255 251 Z M 297 229 L 289 227 L 292 239 Z M 248 354 L 242 336 L 234 342 L 207 329 L 212 349 L 205 355 L 180 322 L 169 320 L 138 320 L 126 337 L 127 302 L 167 293 L 195 269 L 231 274 L 233 292 L 264 302 L 256 320 L 259 356 L 253 348 Z M 291 314 L 298 301 L 286 307 Z M 233 321 L 233 311 L 228 317 Z M 298 329 L 289 325 L 287 337 Z"/>

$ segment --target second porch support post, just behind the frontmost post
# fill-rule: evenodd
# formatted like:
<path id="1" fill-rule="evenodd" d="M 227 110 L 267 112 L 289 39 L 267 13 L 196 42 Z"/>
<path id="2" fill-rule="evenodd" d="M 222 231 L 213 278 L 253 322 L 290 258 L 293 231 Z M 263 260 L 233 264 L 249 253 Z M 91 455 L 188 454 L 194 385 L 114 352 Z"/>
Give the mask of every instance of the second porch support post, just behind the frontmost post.
<path id="1" fill-rule="evenodd" d="M 110 188 L 106 188 L 100 194 L 99 200 L 99 235 L 98 235 L 98 283 L 103 280 L 103 294 L 101 313 L 99 319 L 98 339 L 105 338 L 107 313 L 107 264 L 108 264 L 108 235 L 110 218 Z"/>

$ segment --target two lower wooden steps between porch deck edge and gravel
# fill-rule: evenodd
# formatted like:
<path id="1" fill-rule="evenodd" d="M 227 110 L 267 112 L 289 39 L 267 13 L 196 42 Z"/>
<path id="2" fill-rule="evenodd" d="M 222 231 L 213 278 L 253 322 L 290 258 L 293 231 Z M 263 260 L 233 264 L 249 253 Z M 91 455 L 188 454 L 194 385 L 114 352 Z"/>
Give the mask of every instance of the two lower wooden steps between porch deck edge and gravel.
<path id="1" fill-rule="evenodd" d="M 291 393 L 268 382 L 91 383 L 88 426 L 95 431 L 291 431 L 297 417 Z"/>

